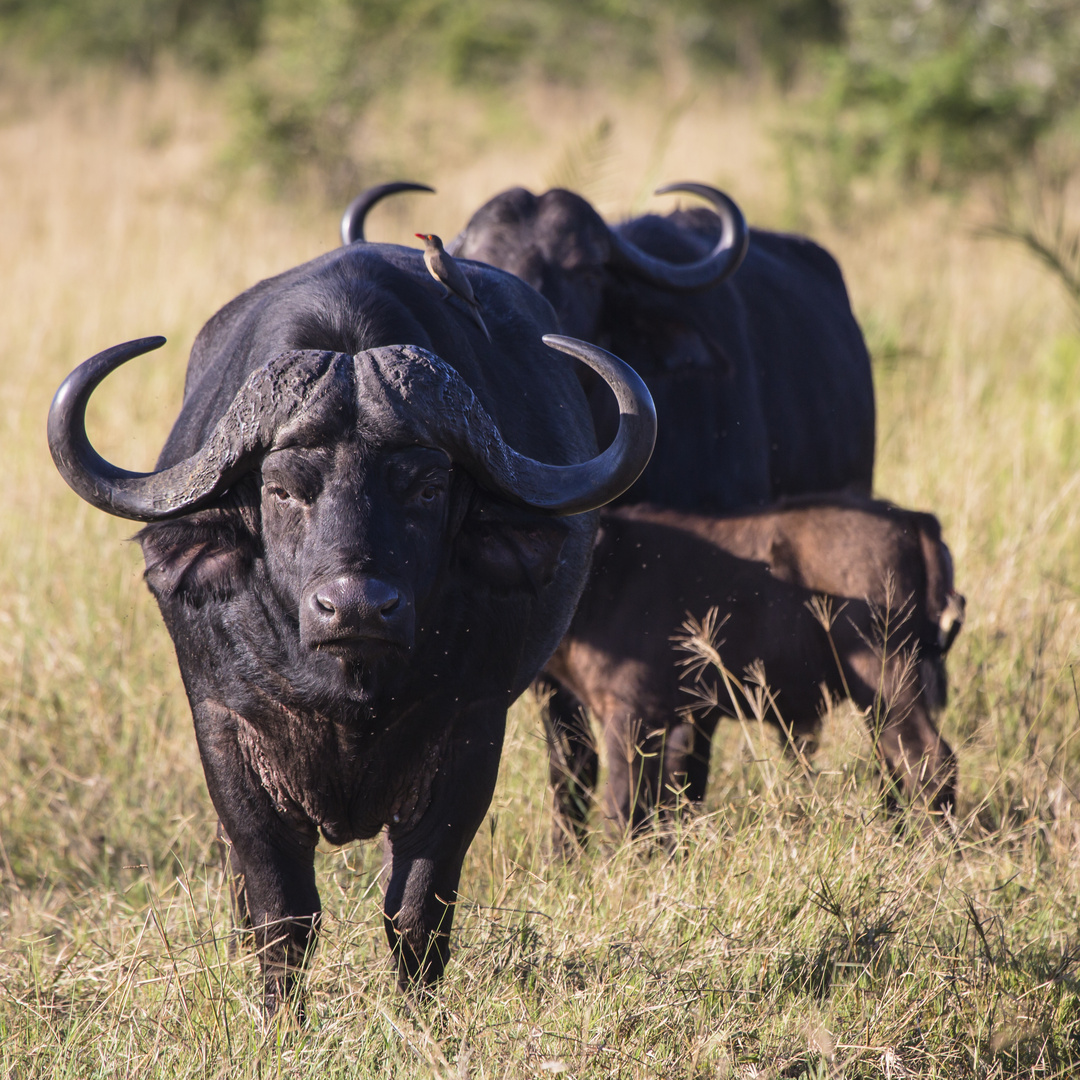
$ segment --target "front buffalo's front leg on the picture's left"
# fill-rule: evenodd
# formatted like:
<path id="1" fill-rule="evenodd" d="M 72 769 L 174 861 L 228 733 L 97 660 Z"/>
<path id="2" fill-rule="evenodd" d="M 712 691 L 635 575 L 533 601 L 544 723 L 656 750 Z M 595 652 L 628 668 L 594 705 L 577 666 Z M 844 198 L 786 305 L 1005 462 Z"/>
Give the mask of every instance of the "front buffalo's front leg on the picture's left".
<path id="1" fill-rule="evenodd" d="M 240 754 L 234 715 L 206 702 L 195 715 L 206 786 L 229 843 L 233 915 L 255 939 L 266 1012 L 295 999 L 302 1018 L 298 989 L 321 913 L 314 867 L 319 837 L 313 825 L 273 805 Z"/>

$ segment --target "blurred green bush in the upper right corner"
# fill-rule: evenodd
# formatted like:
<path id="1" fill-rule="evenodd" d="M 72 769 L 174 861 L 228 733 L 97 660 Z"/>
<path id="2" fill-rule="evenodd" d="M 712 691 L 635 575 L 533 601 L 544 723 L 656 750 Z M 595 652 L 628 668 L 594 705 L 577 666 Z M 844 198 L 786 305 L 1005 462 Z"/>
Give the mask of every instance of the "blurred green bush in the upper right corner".
<path id="1" fill-rule="evenodd" d="M 881 166 L 962 187 L 1077 118 L 1076 0 L 845 0 L 843 27 L 812 140 L 841 187 Z"/>

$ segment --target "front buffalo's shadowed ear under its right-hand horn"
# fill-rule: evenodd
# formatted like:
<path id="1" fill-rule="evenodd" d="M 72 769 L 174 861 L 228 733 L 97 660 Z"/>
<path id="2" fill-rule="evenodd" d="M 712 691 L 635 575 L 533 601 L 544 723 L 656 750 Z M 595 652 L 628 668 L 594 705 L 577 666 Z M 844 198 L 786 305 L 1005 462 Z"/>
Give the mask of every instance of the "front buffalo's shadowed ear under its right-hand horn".
<path id="1" fill-rule="evenodd" d="M 539 592 L 555 577 L 568 535 L 557 517 L 484 508 L 463 522 L 457 552 L 467 571 L 495 589 Z"/>

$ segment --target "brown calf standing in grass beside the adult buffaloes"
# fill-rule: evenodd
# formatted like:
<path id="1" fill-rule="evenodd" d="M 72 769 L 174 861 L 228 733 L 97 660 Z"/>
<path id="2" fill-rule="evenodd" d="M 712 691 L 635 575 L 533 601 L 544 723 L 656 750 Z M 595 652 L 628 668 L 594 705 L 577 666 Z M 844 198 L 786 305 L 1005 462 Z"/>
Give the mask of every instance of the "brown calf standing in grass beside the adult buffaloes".
<path id="1" fill-rule="evenodd" d="M 812 752 L 825 696 L 850 698 L 890 805 L 900 791 L 930 811 L 951 807 L 956 764 L 933 717 L 964 602 L 935 517 L 839 495 L 725 517 L 631 507 L 602 521 L 590 583 L 539 686 L 550 691 L 556 848 L 581 839 L 596 784 L 582 705 L 604 729 L 609 828 L 640 825 L 679 794 L 704 796 L 710 740 L 734 711 L 721 686 L 718 705 L 691 718 L 687 653 L 673 637 L 712 608 L 727 670 L 743 678 L 764 663 L 765 718 L 789 747 Z"/>

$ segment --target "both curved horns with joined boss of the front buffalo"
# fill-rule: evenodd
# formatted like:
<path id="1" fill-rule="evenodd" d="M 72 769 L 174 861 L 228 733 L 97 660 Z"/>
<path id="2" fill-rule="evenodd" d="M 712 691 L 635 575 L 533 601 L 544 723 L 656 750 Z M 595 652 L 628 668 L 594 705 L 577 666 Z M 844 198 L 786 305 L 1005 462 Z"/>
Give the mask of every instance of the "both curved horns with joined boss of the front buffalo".
<path id="1" fill-rule="evenodd" d="M 90 445 L 86 404 L 111 372 L 160 348 L 162 337 L 113 346 L 80 364 L 53 399 L 49 448 L 64 480 L 92 505 L 119 517 L 161 521 L 221 495 L 257 463 L 289 418 L 322 393 L 345 389 L 356 377 L 363 388 L 362 414 L 376 419 L 376 430 L 382 428 L 378 417 L 389 407 L 414 431 L 427 428 L 434 445 L 447 445 L 483 485 L 504 498 L 550 514 L 580 514 L 610 502 L 640 475 L 656 442 L 656 409 L 645 383 L 617 356 L 575 338 L 548 335 L 543 340 L 586 363 L 619 401 L 615 441 L 580 464 L 544 464 L 511 449 L 472 390 L 445 361 L 414 346 L 391 346 L 355 357 L 312 350 L 282 353 L 248 376 L 198 453 L 158 472 L 129 472 Z M 369 382 L 368 376 L 375 381 Z"/>

